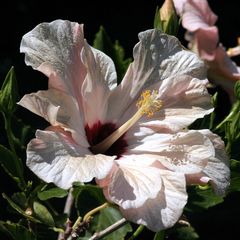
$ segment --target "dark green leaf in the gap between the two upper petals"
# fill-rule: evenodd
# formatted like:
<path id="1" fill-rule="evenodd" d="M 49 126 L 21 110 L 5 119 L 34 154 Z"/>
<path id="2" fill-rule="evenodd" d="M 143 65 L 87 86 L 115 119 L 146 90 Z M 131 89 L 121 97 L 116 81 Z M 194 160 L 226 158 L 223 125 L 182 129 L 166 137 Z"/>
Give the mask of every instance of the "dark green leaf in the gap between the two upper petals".
<path id="1" fill-rule="evenodd" d="M 119 45 L 118 41 L 116 41 L 114 44 L 112 43 L 103 26 L 100 27 L 98 33 L 95 36 L 93 47 L 101 50 L 110 58 L 112 58 L 116 67 L 117 80 L 119 84 L 123 79 L 128 65 L 131 62 L 130 58 L 125 59 L 124 49 Z"/>

